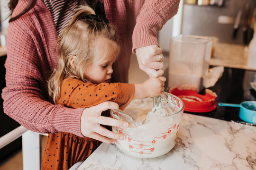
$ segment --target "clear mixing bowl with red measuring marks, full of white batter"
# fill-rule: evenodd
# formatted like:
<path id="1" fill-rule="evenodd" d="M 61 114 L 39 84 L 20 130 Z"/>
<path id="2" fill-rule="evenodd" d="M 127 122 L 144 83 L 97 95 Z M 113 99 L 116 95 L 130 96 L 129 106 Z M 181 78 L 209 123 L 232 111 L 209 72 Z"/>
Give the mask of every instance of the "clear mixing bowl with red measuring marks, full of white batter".
<path id="1" fill-rule="evenodd" d="M 173 94 L 164 93 L 161 95 L 160 109 L 153 112 L 153 107 L 153 98 L 147 97 L 132 101 L 122 112 L 110 110 L 111 117 L 129 123 L 126 129 L 112 127 L 113 132 L 126 136 L 125 140 L 115 142 L 124 153 L 154 158 L 168 153 L 174 147 L 182 119 L 183 102 Z"/>

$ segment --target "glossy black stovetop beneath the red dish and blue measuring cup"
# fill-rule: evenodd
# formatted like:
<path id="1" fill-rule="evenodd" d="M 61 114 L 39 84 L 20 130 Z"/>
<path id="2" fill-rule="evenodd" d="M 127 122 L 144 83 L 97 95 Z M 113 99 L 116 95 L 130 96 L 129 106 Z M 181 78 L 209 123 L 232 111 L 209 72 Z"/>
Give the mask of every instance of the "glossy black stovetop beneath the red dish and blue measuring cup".
<path id="1" fill-rule="evenodd" d="M 256 91 L 251 88 L 250 82 L 256 82 L 256 71 L 224 68 L 223 75 L 209 89 L 217 94 L 217 105 L 219 102 L 240 104 L 244 101 L 256 101 Z M 239 109 L 238 107 L 217 106 L 217 109 L 210 112 L 186 113 L 249 124 L 239 118 Z M 256 126 L 256 124 L 249 125 Z"/>

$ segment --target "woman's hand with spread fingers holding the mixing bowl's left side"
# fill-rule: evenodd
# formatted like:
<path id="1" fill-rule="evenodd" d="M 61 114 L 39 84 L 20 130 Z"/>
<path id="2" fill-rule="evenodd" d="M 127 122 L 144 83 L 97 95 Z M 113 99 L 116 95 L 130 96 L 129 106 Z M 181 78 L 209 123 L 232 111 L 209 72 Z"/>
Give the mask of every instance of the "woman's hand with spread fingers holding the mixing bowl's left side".
<path id="1" fill-rule="evenodd" d="M 105 143 L 113 143 L 115 142 L 115 139 L 125 139 L 124 135 L 114 133 L 104 127 L 101 127 L 101 125 L 109 125 L 121 128 L 128 127 L 128 123 L 125 121 L 101 116 L 101 112 L 108 109 L 118 110 L 119 105 L 115 102 L 103 102 L 83 110 L 81 117 L 81 132 L 83 136 L 90 137 Z"/>

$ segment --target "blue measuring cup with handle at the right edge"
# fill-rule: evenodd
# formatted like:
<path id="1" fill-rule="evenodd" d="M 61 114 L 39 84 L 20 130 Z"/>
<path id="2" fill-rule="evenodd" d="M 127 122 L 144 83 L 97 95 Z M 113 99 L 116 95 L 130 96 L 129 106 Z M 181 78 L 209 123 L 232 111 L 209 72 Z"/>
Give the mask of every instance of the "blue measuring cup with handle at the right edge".
<path id="1" fill-rule="evenodd" d="M 256 123 L 256 101 L 245 101 L 241 104 L 219 103 L 219 106 L 239 107 L 239 118 L 248 122 Z"/>

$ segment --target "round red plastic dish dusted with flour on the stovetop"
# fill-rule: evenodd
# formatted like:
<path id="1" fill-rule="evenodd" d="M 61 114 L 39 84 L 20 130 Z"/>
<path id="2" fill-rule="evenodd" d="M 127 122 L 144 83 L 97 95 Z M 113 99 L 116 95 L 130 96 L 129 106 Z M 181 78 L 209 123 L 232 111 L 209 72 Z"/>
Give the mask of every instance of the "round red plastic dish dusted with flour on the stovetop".
<path id="1" fill-rule="evenodd" d="M 208 112 L 217 108 L 217 94 L 206 89 L 206 94 L 197 93 L 196 86 L 179 85 L 169 89 L 169 93 L 179 97 L 184 102 L 184 111 Z"/>

